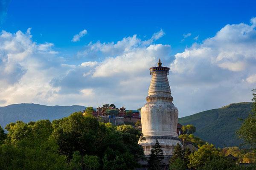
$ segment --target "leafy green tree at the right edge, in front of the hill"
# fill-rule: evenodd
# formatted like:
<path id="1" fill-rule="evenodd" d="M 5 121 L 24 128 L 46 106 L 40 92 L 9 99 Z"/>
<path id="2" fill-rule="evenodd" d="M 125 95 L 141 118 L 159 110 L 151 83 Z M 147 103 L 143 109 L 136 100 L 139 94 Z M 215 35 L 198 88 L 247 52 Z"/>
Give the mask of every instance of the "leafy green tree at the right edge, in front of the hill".
<path id="1" fill-rule="evenodd" d="M 253 89 L 253 108 L 252 114 L 250 114 L 242 123 L 237 134 L 240 139 L 244 139 L 244 142 L 252 149 L 256 149 L 256 89 Z"/>

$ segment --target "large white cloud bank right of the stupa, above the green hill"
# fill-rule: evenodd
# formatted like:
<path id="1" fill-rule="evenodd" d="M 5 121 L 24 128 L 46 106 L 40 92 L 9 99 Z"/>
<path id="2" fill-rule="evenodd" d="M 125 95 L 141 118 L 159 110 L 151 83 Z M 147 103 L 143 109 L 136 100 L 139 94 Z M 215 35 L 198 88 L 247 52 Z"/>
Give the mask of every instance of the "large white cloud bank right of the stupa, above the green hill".
<path id="1" fill-rule="evenodd" d="M 228 24 L 214 37 L 175 55 L 170 64 L 172 90 L 189 96 L 190 102 L 185 102 L 190 111 L 250 101 L 250 90 L 256 85 L 255 28 L 255 18 L 250 25 Z M 182 100 L 182 95 L 177 99 Z"/>

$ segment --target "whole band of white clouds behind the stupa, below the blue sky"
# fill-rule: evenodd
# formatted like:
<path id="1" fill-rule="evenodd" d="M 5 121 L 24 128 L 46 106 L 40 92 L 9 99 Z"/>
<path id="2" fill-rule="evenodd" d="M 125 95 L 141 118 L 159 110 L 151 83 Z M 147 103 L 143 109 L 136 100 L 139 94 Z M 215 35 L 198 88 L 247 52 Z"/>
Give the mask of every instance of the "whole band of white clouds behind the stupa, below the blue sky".
<path id="1" fill-rule="evenodd" d="M 171 54 L 171 45 L 133 35 L 117 42 L 90 42 L 71 64 L 54 44 L 37 44 L 30 30 L 0 34 L 0 105 L 97 106 L 115 103 L 136 109 L 145 104 L 149 68 L 161 58 L 179 116 L 233 102 L 250 101 L 256 85 L 256 19 L 226 25 L 214 37 Z M 5 73 L 5 74 L 3 74 Z M 7 76 L 6 76 L 7 75 Z"/>

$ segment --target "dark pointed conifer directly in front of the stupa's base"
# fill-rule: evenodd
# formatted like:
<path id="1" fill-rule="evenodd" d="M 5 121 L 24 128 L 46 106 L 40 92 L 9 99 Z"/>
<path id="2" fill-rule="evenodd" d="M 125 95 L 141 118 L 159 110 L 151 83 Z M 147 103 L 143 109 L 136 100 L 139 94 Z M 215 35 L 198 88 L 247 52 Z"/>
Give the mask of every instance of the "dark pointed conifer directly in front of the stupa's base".
<path id="1" fill-rule="evenodd" d="M 150 157 L 148 159 L 148 167 L 150 170 L 160 170 L 160 164 L 163 163 L 163 150 L 156 140 L 153 148 L 151 149 Z"/>

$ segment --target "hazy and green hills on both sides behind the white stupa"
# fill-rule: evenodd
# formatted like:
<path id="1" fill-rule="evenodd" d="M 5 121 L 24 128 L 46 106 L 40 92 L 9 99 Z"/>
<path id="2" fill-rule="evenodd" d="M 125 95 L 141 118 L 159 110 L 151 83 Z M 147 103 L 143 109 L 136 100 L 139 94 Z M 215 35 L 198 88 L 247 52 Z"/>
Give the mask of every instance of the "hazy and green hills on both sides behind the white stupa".
<path id="1" fill-rule="evenodd" d="M 251 113 L 251 102 L 233 103 L 222 108 L 203 111 L 178 119 L 181 125 L 194 125 L 195 136 L 215 144 L 217 147 L 239 146 L 242 143 L 236 137 L 236 130 Z M 0 125 L 4 128 L 10 122 L 23 122 L 40 119 L 61 119 L 73 112 L 85 110 L 85 106 L 46 106 L 39 104 L 14 104 L 0 107 Z"/>

